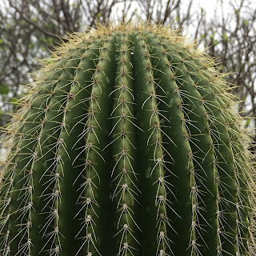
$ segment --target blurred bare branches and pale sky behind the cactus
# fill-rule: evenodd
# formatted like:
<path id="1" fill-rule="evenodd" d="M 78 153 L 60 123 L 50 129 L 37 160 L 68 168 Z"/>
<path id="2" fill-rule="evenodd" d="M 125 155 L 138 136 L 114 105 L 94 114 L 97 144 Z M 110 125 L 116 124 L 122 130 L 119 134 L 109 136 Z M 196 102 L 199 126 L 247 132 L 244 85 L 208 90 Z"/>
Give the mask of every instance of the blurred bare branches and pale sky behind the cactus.
<path id="1" fill-rule="evenodd" d="M 28 73 L 40 67 L 37 58 L 49 58 L 66 33 L 87 30 L 97 20 L 136 17 L 182 29 L 218 58 L 230 87 L 237 85 L 231 91 L 241 99 L 238 111 L 255 141 L 254 0 L 0 0 L 0 127 L 17 109 L 26 90 L 21 85 L 33 82 Z"/>

